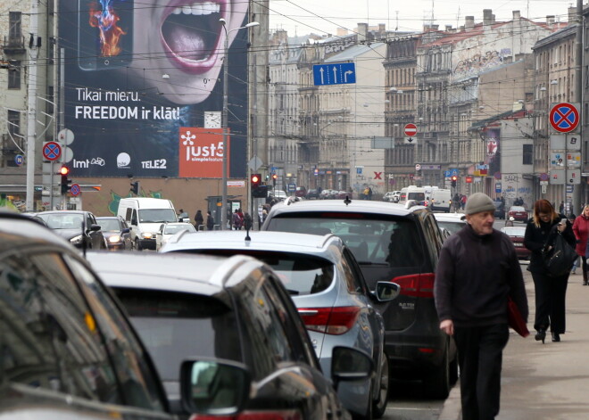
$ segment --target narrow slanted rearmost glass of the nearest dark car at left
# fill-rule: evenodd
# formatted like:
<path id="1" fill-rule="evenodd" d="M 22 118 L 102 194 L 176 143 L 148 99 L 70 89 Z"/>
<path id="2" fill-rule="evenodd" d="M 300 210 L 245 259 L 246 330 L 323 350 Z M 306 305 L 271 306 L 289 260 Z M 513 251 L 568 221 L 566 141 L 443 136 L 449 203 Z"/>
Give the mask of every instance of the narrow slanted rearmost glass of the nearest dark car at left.
<path id="1" fill-rule="evenodd" d="M 77 259 L 66 256 L 66 260 L 72 272 L 87 285 L 83 292 L 95 314 L 95 323 L 103 332 L 108 350 L 112 353 L 112 363 L 122 384 L 126 404 L 162 409 L 159 378 L 152 375 L 145 351 L 127 320 L 92 272 Z"/>

